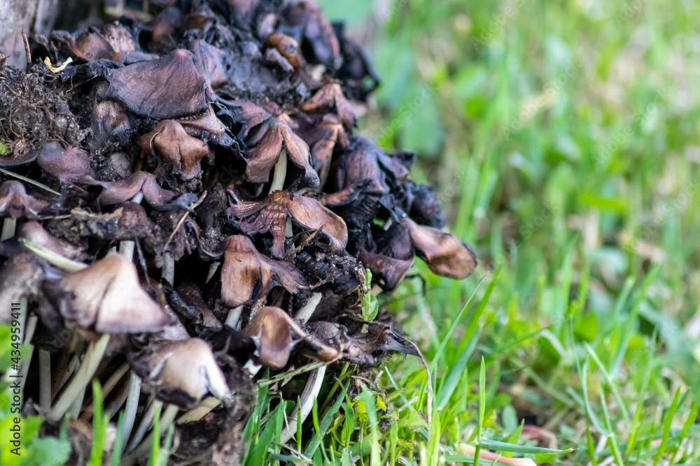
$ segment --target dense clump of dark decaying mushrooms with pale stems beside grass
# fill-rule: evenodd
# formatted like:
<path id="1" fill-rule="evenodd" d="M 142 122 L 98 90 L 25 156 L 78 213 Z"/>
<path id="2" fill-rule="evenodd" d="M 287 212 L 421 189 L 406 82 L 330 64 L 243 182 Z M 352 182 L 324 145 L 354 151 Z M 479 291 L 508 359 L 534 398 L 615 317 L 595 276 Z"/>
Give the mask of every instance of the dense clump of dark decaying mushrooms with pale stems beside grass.
<path id="1" fill-rule="evenodd" d="M 476 259 L 409 180 L 414 154 L 353 132 L 379 81 L 314 3 L 146 13 L 30 38 L 27 71 L 0 56 L 0 320 L 28 316 L 25 410 L 48 425 L 80 431 L 97 377 L 124 454 L 165 403 L 176 460 L 233 464 L 260 367 L 416 354 L 363 296 L 416 256 L 454 279 Z"/>

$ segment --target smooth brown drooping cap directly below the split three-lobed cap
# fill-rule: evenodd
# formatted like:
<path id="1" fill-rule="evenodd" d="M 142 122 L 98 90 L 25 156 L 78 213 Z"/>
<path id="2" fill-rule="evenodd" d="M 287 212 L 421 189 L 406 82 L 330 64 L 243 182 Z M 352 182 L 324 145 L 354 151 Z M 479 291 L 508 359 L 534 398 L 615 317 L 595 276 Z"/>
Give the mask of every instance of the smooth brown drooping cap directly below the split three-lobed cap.
<path id="1" fill-rule="evenodd" d="M 275 283 L 293 294 L 299 293 L 300 286 L 306 285 L 294 265 L 260 254 L 245 236 L 229 236 L 224 247 L 221 298 L 228 306 L 238 307 L 251 300 L 264 300 Z"/>

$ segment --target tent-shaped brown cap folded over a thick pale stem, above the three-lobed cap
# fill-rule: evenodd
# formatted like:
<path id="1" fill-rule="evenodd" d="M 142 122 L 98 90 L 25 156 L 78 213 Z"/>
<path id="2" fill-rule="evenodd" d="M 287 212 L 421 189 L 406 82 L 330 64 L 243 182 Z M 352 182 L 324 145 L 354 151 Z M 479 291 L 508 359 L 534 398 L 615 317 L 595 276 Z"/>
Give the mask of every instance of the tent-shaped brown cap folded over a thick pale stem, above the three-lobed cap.
<path id="1" fill-rule="evenodd" d="M 318 186 L 318 173 L 311 166 L 309 146 L 290 129 L 289 125 L 279 119 L 272 119 L 265 131 L 248 155 L 246 161 L 246 178 L 253 183 L 265 183 L 269 173 L 279 159 L 282 148 L 286 148 L 288 159 L 295 166 L 304 170 L 304 179 L 311 187 Z"/>

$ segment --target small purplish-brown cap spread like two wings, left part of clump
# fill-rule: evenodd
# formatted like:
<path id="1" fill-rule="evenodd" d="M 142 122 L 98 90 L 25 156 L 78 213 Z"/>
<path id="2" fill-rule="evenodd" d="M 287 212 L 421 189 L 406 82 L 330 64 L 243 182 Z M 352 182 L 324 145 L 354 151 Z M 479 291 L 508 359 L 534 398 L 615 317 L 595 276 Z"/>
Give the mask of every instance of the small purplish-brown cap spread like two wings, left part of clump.
<path id="1" fill-rule="evenodd" d="M 152 173 L 143 171 L 134 172 L 124 180 L 99 183 L 104 191 L 98 196 L 100 205 L 113 205 L 128 201 L 137 193 L 144 194 L 144 199 L 149 205 L 166 205 L 175 197 L 173 191 L 162 189 Z"/>

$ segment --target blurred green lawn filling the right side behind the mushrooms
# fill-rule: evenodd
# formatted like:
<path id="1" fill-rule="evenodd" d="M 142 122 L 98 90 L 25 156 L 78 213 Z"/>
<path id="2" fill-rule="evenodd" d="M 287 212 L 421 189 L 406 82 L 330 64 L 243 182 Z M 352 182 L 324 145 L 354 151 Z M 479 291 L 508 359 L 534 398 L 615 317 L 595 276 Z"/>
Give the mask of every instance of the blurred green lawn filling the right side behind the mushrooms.
<path id="1" fill-rule="evenodd" d="M 641 463 L 660 456 L 664 422 L 694 424 L 700 386 L 700 4 L 320 4 L 381 76 L 360 133 L 419 154 L 413 177 L 435 187 L 479 256 L 466 282 L 419 263 L 426 292 L 407 280 L 385 300 L 437 354 L 437 386 L 466 368 L 438 396 L 454 407 L 447 443 L 473 433 L 483 356 L 494 432 L 543 426 L 579 445 L 573 464 L 610 454 L 597 434 L 587 446 L 594 428 L 623 456 L 645 451 L 646 432 Z M 393 370 L 398 386 L 419 377 L 416 361 Z M 687 460 L 682 449 L 671 458 Z"/>

